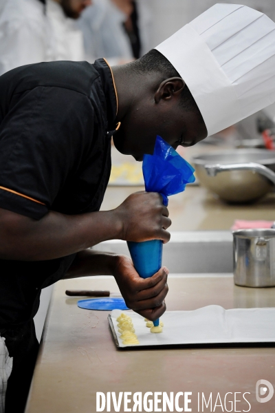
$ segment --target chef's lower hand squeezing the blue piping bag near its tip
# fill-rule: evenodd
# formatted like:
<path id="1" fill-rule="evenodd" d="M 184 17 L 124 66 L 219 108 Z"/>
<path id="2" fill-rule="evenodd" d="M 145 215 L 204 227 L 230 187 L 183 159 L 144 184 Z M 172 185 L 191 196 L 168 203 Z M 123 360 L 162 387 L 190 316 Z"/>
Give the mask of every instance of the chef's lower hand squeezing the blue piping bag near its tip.
<path id="1" fill-rule="evenodd" d="M 115 257 L 113 276 L 118 283 L 126 306 L 135 313 L 154 321 L 166 310 L 164 298 L 168 293 L 168 269 L 162 267 L 153 277 L 141 278 L 126 255 Z"/>

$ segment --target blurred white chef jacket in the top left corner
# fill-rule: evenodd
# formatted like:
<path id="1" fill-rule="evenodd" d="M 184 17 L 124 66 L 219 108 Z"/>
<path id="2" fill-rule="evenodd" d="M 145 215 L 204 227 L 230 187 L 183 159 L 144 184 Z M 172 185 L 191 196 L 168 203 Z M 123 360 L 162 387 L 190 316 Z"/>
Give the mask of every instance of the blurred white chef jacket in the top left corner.
<path id="1" fill-rule="evenodd" d="M 2 0 L 0 75 L 21 65 L 54 60 L 45 6 L 39 0 Z"/>

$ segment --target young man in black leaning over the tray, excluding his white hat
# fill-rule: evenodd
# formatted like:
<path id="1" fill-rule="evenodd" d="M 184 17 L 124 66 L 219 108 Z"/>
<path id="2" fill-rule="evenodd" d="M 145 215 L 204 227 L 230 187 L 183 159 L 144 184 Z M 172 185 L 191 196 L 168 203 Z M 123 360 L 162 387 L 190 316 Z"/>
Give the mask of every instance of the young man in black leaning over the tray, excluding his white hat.
<path id="1" fill-rule="evenodd" d="M 156 65 L 156 56 L 159 69 L 149 81 L 133 69 L 139 63 L 112 74 L 103 59 L 39 63 L 0 78 L 0 329 L 14 357 L 8 411 L 15 392 L 27 394 L 32 376 L 38 349 L 32 318 L 41 288 L 63 277 L 113 274 L 130 308 L 148 319 L 164 313 L 164 268 L 141 279 L 129 258 L 87 250 L 111 239 L 169 240 L 168 210 L 157 193 L 135 193 L 117 209 L 98 212 L 112 135 L 118 149 L 137 160 L 153 151 L 157 134 L 173 147 L 206 136 L 170 63 L 157 51 L 144 59 Z"/>

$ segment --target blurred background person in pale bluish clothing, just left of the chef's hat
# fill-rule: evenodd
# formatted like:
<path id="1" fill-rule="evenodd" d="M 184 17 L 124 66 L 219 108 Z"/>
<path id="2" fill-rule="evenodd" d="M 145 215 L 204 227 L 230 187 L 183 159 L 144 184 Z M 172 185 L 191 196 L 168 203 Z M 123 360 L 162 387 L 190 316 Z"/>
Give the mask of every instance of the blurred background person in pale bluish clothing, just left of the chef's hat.
<path id="1" fill-rule="evenodd" d="M 138 59 L 150 49 L 148 0 L 94 0 L 78 21 L 88 61 L 106 57 L 111 65 Z"/>

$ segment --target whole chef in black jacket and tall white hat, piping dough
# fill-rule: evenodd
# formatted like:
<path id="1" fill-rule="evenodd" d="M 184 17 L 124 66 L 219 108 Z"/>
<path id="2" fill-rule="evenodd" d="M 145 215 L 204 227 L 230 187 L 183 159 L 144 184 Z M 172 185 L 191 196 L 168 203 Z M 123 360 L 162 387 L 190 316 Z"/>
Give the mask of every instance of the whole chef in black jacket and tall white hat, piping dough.
<path id="1" fill-rule="evenodd" d="M 188 147 L 270 105 L 274 28 L 261 12 L 217 4 L 128 65 L 60 61 L 1 76 L 3 391 L 13 357 L 6 412 L 22 412 L 28 394 L 41 288 L 111 274 L 129 308 L 151 320 L 164 313 L 166 268 L 141 279 L 128 257 L 88 249 L 115 238 L 169 240 L 168 210 L 157 193 L 133 193 L 99 211 L 111 136 L 120 152 L 142 160 L 157 134 L 174 148 Z"/>

